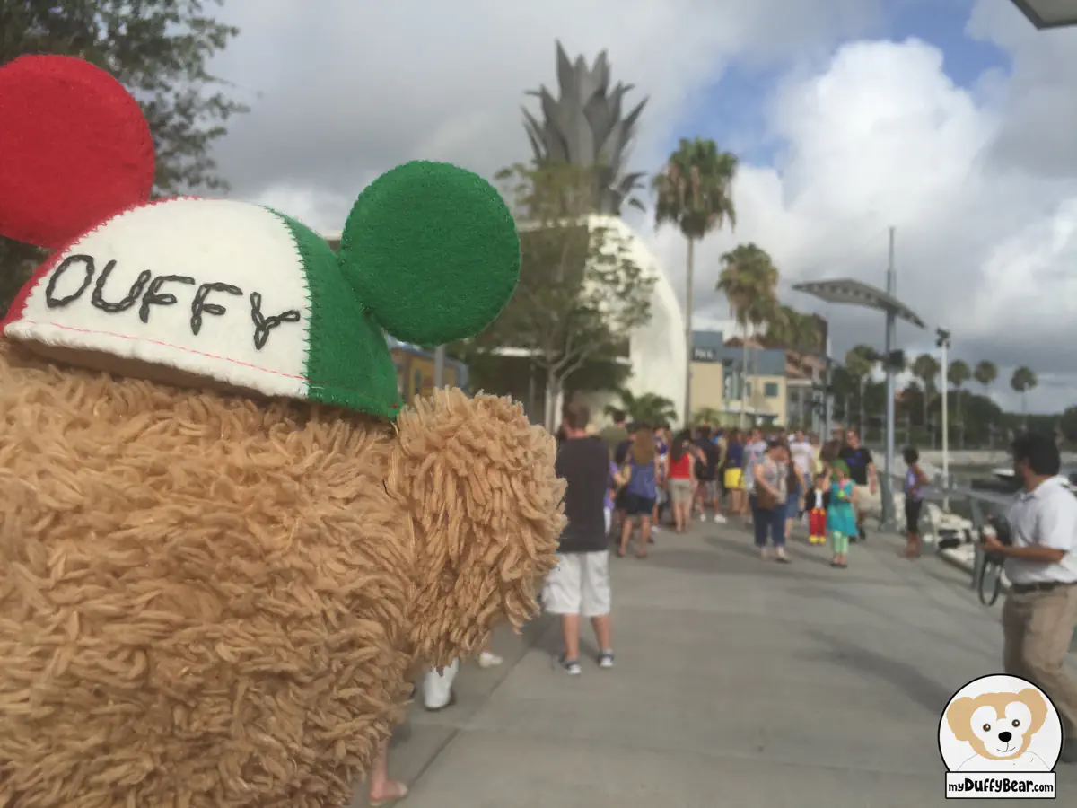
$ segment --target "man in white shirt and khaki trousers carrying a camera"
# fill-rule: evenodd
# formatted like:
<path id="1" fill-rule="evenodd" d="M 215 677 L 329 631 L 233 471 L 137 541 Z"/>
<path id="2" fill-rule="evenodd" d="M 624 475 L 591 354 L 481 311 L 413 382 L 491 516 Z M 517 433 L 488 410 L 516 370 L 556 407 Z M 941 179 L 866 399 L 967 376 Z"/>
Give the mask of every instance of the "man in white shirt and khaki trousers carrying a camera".
<path id="1" fill-rule="evenodd" d="M 1077 497 L 1058 476 L 1059 447 L 1049 435 L 1013 442 L 1023 490 L 1009 511 L 1012 543 L 985 537 L 984 549 L 1006 559 L 1010 593 L 1003 609 L 1003 663 L 1050 696 L 1064 725 L 1062 761 L 1077 763 L 1077 681 L 1064 669 L 1077 630 Z"/>

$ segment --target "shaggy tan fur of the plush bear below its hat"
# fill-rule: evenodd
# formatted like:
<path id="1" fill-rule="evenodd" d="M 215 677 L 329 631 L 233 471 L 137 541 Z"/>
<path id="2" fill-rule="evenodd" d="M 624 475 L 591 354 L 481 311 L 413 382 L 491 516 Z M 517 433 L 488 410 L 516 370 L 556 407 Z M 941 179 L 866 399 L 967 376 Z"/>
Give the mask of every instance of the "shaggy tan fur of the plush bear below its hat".
<path id="1" fill-rule="evenodd" d="M 0 805 L 347 805 L 408 671 L 533 611 L 554 455 L 504 399 L 389 424 L 0 346 Z"/>

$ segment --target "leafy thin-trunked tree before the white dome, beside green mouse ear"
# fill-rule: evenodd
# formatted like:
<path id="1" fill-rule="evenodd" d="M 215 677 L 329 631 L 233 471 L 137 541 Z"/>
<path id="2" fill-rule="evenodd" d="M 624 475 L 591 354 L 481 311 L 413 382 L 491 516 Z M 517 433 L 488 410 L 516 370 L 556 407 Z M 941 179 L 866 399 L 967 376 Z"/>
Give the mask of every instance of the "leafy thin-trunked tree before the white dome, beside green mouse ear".
<path id="1" fill-rule="evenodd" d="M 565 379 L 588 361 L 624 353 L 651 319 L 656 278 L 631 260 L 616 231 L 591 226 L 592 169 L 568 163 L 500 172 L 519 220 L 522 266 L 513 299 L 479 337 L 530 352 L 546 375 L 545 420 Z"/>

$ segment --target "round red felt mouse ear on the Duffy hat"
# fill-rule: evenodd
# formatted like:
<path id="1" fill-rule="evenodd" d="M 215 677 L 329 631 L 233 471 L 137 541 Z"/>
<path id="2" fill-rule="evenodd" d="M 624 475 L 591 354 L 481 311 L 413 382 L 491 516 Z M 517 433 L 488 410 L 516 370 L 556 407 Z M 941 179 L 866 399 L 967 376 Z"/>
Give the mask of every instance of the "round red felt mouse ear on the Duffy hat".
<path id="1" fill-rule="evenodd" d="M 59 249 L 145 203 L 153 138 L 123 85 L 83 59 L 0 67 L 0 234 Z"/>

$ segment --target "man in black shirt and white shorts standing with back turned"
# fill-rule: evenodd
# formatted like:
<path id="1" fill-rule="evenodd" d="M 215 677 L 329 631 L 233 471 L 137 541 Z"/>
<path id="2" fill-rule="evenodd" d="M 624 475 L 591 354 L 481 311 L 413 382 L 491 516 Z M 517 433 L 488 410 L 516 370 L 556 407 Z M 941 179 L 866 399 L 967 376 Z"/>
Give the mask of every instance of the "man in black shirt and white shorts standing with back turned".
<path id="1" fill-rule="evenodd" d="M 579 616 L 591 618 L 599 643 L 598 663 L 613 667 L 610 641 L 610 553 L 605 496 L 610 488 L 610 450 L 587 434 L 590 413 L 583 402 L 570 402 L 562 413 L 565 441 L 557 455 L 557 475 L 568 483 L 558 565 L 546 579 L 543 604 L 561 616 L 564 653 L 561 667 L 578 675 Z"/>

